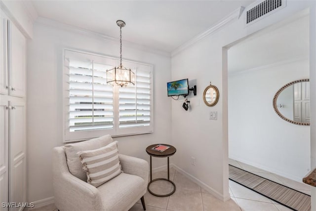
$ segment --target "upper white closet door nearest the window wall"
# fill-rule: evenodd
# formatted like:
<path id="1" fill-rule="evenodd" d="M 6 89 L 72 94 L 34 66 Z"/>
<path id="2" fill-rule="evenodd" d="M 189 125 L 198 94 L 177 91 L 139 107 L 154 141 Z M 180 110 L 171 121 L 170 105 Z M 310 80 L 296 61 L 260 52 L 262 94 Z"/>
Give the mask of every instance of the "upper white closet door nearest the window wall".
<path id="1" fill-rule="evenodd" d="M 25 96 L 26 39 L 20 30 L 8 21 L 9 94 Z"/>

